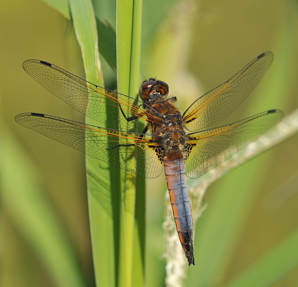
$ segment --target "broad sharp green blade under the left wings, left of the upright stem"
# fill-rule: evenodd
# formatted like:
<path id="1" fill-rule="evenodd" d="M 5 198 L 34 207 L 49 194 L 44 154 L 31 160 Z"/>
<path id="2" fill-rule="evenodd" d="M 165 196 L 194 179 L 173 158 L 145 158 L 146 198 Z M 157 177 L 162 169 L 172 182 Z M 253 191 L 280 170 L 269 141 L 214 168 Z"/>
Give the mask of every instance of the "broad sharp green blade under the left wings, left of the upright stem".
<path id="1" fill-rule="evenodd" d="M 87 80 L 103 86 L 100 59 L 98 52 L 98 38 L 96 19 L 89 0 L 69 1 L 72 19 L 78 42 L 81 47 Z M 104 112 L 104 110 L 102 111 Z M 86 117 L 86 122 L 95 124 Z M 89 218 L 91 227 L 94 272 L 97 286 L 115 286 L 115 249 L 117 241 L 114 238 L 114 218 L 112 212 L 113 193 L 119 190 L 115 182 L 111 184 L 109 165 L 96 159 L 86 157 Z M 115 174 L 117 177 L 117 174 Z M 113 193 L 111 191 L 112 188 Z"/>

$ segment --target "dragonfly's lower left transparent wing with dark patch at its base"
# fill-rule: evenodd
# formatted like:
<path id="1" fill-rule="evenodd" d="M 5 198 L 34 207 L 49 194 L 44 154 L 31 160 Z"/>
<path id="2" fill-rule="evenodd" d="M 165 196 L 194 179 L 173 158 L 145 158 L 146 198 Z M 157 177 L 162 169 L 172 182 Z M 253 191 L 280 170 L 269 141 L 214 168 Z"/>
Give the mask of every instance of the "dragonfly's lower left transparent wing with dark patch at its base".
<path id="1" fill-rule="evenodd" d="M 156 153 L 159 144 L 150 140 L 149 135 L 143 138 L 142 134 L 37 113 L 19 114 L 15 120 L 26 128 L 138 176 L 155 178 L 162 172 L 163 162 Z"/>

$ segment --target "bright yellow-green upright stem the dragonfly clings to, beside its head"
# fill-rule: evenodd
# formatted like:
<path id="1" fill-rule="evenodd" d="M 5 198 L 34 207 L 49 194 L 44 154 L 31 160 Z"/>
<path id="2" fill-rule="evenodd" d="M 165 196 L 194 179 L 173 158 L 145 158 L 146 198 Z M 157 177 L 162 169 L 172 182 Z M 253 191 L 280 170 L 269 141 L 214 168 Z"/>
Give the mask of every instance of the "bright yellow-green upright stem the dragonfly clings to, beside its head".
<path id="1" fill-rule="evenodd" d="M 139 89 L 141 22 L 142 1 L 117 1 L 118 91 L 131 97 L 135 97 Z M 123 128 L 127 127 L 128 125 Z M 136 176 L 122 171 L 121 180 L 119 286 L 131 286 L 132 282 L 134 286 L 142 286 L 145 236 L 140 232 L 134 234 L 134 231 L 137 232 L 144 228 L 140 224 L 145 222 L 145 212 L 139 209 L 145 206 L 145 196 L 140 196 L 140 200 L 136 201 Z M 138 179 L 138 181 L 141 180 Z M 144 194 L 144 181 L 141 183 L 138 193 Z M 135 206 L 136 202 L 137 206 Z M 138 210 L 137 222 L 135 222 L 136 208 Z M 134 268 L 134 278 L 138 275 L 138 280 L 132 280 L 133 258 L 134 267 L 139 267 Z"/>

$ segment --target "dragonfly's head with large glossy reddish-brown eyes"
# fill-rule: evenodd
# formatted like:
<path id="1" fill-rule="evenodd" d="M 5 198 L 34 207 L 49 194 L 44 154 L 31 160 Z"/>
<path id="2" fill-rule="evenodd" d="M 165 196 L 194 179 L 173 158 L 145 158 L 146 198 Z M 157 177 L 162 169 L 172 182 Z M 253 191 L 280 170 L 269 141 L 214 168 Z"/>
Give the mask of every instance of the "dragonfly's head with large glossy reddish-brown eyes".
<path id="1" fill-rule="evenodd" d="M 139 95 L 143 101 L 147 100 L 151 94 L 160 94 L 167 96 L 169 93 L 169 86 L 167 83 L 157 81 L 154 78 L 150 78 L 148 81 L 144 81 L 139 89 Z"/>

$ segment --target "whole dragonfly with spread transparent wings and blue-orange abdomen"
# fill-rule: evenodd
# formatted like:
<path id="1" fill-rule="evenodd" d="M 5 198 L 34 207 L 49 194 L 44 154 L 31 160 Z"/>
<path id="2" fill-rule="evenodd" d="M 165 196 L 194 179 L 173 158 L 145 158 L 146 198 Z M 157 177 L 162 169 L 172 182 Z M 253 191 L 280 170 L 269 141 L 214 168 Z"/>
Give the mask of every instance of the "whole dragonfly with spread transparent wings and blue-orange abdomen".
<path id="1" fill-rule="evenodd" d="M 193 219 L 185 176 L 196 179 L 276 125 L 278 109 L 215 127 L 252 92 L 273 60 L 257 56 L 225 83 L 195 100 L 183 113 L 167 83 L 150 78 L 139 99 L 89 83 L 42 60 L 27 60 L 24 70 L 52 94 L 103 125 L 23 113 L 16 122 L 87 155 L 145 178 L 164 170 L 178 236 L 195 265 Z M 186 91 L 187 92 L 187 91 Z"/>

